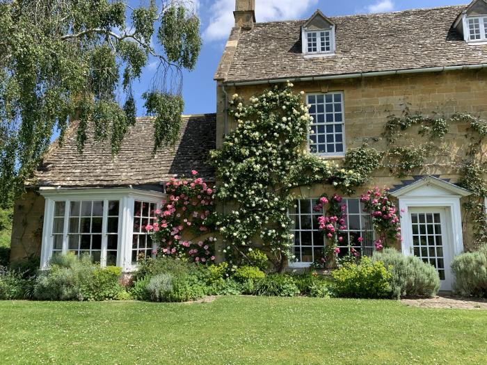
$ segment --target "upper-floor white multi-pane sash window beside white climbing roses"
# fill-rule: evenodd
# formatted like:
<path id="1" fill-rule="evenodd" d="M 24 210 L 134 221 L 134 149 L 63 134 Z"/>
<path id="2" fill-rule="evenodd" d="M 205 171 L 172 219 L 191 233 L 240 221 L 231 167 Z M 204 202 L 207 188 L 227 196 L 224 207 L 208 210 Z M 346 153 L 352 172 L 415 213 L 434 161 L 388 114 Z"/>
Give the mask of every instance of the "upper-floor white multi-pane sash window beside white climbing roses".
<path id="1" fill-rule="evenodd" d="M 309 136 L 312 154 L 344 155 L 343 99 L 342 92 L 307 95 L 309 113 L 313 117 Z"/>

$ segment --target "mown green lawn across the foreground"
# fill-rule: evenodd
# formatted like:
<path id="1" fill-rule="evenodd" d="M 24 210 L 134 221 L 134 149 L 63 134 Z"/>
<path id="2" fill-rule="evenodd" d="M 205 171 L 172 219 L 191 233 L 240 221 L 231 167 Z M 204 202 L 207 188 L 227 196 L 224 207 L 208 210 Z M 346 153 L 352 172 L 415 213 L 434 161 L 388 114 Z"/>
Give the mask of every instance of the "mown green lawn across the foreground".
<path id="1" fill-rule="evenodd" d="M 487 311 L 390 300 L 0 302 L 2 364 L 487 364 Z"/>

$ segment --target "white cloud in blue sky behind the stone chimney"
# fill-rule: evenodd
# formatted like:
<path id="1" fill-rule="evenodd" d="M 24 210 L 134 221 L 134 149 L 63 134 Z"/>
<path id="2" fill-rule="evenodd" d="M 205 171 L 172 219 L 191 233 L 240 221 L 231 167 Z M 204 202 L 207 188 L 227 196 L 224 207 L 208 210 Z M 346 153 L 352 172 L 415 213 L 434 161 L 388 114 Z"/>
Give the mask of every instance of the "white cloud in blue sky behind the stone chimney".
<path id="1" fill-rule="evenodd" d="M 273 20 L 298 19 L 318 0 L 259 0 L 255 1 L 255 18 L 257 22 Z M 210 7 L 213 14 L 209 25 L 203 32 L 205 40 L 222 40 L 227 38 L 234 25 L 233 10 L 235 0 L 216 0 Z"/>

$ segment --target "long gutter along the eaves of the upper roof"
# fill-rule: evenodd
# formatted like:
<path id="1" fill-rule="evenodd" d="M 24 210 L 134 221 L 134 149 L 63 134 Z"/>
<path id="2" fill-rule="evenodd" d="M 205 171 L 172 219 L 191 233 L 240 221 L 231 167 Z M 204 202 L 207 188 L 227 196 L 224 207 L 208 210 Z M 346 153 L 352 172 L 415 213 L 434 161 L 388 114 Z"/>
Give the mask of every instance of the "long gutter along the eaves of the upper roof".
<path id="1" fill-rule="evenodd" d="M 305 81 L 321 81 L 321 80 L 335 80 L 335 79 L 360 79 L 363 77 L 374 76 L 390 76 L 401 74 L 422 74 L 426 72 L 445 72 L 445 71 L 458 71 L 458 70 L 481 70 L 487 68 L 487 63 L 479 63 L 477 65 L 461 65 L 461 66 L 442 66 L 442 67 L 424 67 L 413 68 L 407 70 L 394 70 L 394 71 L 378 71 L 378 72 L 359 72 L 356 74 L 338 74 L 328 76 L 310 76 L 310 77 L 295 77 L 292 79 L 268 79 L 259 81 L 241 81 L 241 82 L 225 82 L 227 86 L 250 86 L 250 85 L 267 85 L 272 83 L 285 83 L 290 82 L 305 82 Z"/>

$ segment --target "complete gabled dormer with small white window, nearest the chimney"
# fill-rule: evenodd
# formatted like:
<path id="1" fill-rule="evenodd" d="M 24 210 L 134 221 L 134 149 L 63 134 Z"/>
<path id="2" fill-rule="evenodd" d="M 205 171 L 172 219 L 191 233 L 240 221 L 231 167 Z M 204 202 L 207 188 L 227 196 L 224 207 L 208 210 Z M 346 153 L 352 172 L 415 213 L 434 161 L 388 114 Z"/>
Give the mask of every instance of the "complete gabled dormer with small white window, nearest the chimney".
<path id="1" fill-rule="evenodd" d="M 303 54 L 319 56 L 335 53 L 335 24 L 317 10 L 303 24 Z"/>

